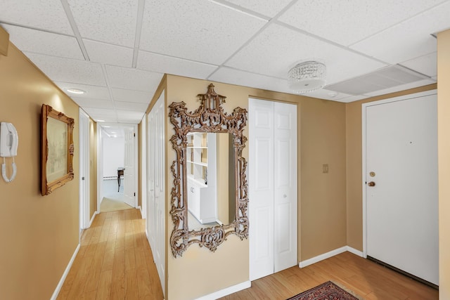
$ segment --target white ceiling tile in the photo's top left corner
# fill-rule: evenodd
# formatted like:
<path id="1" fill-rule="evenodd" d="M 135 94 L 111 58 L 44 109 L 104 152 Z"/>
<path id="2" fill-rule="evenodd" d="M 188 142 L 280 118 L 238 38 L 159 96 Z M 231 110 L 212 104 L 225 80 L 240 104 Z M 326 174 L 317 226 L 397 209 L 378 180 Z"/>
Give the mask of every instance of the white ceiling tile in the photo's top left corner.
<path id="1" fill-rule="evenodd" d="M 2 0 L 0 22 L 73 35 L 60 0 Z"/>

